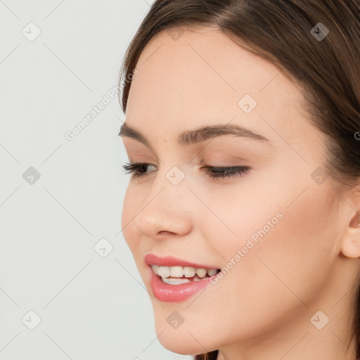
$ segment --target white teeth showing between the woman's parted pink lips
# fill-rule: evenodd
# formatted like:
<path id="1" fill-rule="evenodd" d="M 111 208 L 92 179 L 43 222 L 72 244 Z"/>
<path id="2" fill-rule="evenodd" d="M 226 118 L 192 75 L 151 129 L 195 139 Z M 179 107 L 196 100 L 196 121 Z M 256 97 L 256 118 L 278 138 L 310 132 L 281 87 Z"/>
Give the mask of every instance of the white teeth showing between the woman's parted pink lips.
<path id="1" fill-rule="evenodd" d="M 155 264 L 150 266 L 153 273 L 157 275 L 163 283 L 169 285 L 203 281 L 221 271 L 220 269 L 195 268 L 193 266 L 158 266 Z"/>

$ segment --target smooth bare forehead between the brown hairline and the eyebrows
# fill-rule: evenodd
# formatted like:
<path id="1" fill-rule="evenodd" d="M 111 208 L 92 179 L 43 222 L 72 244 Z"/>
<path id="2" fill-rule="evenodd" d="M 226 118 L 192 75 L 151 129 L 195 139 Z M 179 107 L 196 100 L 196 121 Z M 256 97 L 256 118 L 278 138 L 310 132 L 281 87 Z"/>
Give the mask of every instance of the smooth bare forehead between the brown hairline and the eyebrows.
<path id="1" fill-rule="evenodd" d="M 184 28 L 183 28 L 184 29 Z M 300 117 L 302 96 L 275 65 L 236 44 L 220 30 L 191 27 L 179 30 L 179 39 L 162 31 L 150 39 L 136 64 L 127 121 L 150 130 L 154 122 L 167 132 L 203 124 L 241 122 L 250 129 L 276 120 L 287 131 L 290 117 Z M 244 96 L 254 106 L 241 108 Z M 253 99 L 253 100 L 252 100 Z M 240 103 L 239 103 L 240 101 Z"/>

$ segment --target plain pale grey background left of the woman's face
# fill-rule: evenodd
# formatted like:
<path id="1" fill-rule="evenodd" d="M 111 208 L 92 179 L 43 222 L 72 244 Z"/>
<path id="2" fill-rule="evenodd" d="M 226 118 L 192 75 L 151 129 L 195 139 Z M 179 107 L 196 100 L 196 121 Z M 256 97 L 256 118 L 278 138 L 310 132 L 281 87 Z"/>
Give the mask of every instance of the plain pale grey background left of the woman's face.
<path id="1" fill-rule="evenodd" d="M 0 0 L 0 360 L 191 359 L 156 338 L 121 233 L 116 94 L 65 137 L 116 86 L 150 2 Z"/>

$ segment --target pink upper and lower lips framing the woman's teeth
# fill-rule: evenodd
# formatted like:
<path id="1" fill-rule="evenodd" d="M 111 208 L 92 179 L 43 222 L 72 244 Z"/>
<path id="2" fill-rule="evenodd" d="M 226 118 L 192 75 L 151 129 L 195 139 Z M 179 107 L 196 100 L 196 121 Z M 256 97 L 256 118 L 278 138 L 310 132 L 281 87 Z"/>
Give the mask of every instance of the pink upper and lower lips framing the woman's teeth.
<path id="1" fill-rule="evenodd" d="M 190 283 L 184 283 L 180 285 L 170 285 L 163 283 L 160 276 L 155 275 L 150 265 L 158 266 L 192 266 L 196 269 L 217 269 L 216 267 L 204 266 L 195 264 L 193 262 L 186 262 L 174 257 L 158 257 L 153 254 L 147 254 L 145 256 L 145 262 L 148 264 L 148 271 L 150 271 L 150 284 L 153 289 L 154 296 L 162 302 L 181 302 L 189 297 L 198 293 L 201 289 L 210 285 L 210 280 L 217 275 L 210 276 L 205 280 L 191 281 Z"/>

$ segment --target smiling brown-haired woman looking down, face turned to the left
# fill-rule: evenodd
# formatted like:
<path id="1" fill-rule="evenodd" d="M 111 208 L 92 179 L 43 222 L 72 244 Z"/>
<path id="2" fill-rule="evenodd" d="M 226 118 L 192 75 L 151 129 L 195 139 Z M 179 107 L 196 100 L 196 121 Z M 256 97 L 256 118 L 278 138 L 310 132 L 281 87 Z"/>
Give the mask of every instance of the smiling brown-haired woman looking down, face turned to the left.
<path id="1" fill-rule="evenodd" d="M 122 228 L 167 349 L 360 359 L 359 20 L 359 0 L 151 6 L 120 77 Z"/>

